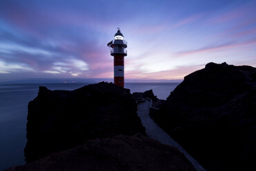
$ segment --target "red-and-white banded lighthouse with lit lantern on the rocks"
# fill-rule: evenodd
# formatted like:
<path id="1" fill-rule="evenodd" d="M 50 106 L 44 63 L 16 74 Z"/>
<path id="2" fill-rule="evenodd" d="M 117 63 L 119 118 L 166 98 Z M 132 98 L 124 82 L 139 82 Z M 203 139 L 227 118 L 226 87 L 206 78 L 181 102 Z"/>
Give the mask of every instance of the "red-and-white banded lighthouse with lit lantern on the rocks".
<path id="1" fill-rule="evenodd" d="M 108 43 L 110 54 L 114 57 L 114 83 L 124 88 L 124 57 L 127 56 L 127 41 L 117 28 L 114 40 Z"/>

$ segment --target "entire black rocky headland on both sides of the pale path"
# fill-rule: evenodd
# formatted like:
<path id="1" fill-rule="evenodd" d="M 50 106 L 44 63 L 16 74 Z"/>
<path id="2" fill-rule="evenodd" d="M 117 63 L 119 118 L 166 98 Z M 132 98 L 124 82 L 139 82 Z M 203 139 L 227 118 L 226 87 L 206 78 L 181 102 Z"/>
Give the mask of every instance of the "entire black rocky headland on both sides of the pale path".
<path id="1" fill-rule="evenodd" d="M 8 170 L 195 170 L 146 136 L 136 103 L 146 98 L 159 108 L 150 117 L 206 170 L 256 170 L 256 68 L 227 63 L 188 74 L 166 101 L 104 82 L 40 87 L 28 105 L 27 164 Z"/>

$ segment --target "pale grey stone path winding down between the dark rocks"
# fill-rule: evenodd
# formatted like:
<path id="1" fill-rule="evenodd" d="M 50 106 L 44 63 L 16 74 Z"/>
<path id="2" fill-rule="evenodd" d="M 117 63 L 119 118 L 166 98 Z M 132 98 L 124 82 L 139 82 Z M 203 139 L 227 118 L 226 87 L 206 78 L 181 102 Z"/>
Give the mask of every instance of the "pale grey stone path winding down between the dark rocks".
<path id="1" fill-rule="evenodd" d="M 186 158 L 194 165 L 196 170 L 206 171 L 193 157 L 184 150 L 184 148 L 176 143 L 164 130 L 162 130 L 155 121 L 149 117 L 150 101 L 145 100 L 143 103 L 139 103 L 137 114 L 141 119 L 142 124 L 146 128 L 146 134 L 152 139 L 157 139 L 161 143 L 173 145 L 182 152 Z"/>

